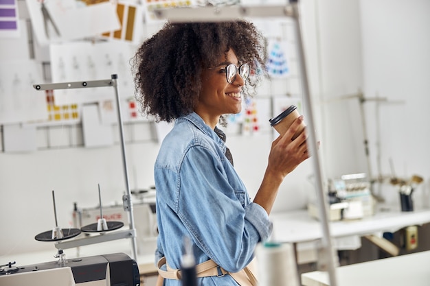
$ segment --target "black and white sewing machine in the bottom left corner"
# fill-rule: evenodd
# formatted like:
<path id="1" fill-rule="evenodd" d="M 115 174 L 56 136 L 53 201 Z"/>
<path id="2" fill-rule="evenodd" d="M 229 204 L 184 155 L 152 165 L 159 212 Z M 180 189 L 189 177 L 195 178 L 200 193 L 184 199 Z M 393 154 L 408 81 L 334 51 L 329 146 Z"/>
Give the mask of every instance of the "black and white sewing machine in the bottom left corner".
<path id="1" fill-rule="evenodd" d="M 133 259 L 115 253 L 25 266 L 7 263 L 0 269 L 0 285 L 139 286 L 140 277 Z"/>

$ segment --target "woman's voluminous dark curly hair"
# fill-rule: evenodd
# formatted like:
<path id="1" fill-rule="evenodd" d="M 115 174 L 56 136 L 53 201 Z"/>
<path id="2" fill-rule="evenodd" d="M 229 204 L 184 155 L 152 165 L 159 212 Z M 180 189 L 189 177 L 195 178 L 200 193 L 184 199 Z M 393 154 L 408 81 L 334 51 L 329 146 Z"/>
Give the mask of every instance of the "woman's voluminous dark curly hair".
<path id="1" fill-rule="evenodd" d="M 218 64 L 233 49 L 239 64 L 251 64 L 242 92 L 255 94 L 264 69 L 264 37 L 248 21 L 166 23 L 137 49 L 132 59 L 135 97 L 142 113 L 170 122 L 194 110 L 203 69 Z"/>

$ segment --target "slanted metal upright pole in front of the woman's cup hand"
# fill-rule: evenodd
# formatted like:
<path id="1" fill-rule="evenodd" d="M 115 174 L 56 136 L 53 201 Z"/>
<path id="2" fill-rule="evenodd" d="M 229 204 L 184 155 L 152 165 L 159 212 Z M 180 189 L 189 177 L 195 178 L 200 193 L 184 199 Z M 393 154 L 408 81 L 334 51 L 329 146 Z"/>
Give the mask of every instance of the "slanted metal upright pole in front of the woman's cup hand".
<path id="1" fill-rule="evenodd" d="M 326 261 L 328 262 L 327 269 L 328 269 L 328 276 L 330 278 L 330 286 L 337 286 L 337 279 L 336 279 L 336 268 L 335 268 L 335 259 L 333 257 L 333 250 L 332 250 L 332 243 L 331 243 L 331 236 L 330 236 L 330 229 L 328 226 L 328 210 L 327 210 L 327 203 L 326 203 L 326 195 L 324 193 L 324 185 L 323 180 L 321 176 L 321 167 L 319 163 L 319 154 L 318 154 L 318 147 L 317 147 L 317 139 L 315 136 L 315 124 L 313 119 L 313 112 L 312 108 L 310 106 L 311 99 L 310 99 L 310 91 L 309 91 L 309 82 L 308 82 L 308 74 L 306 71 L 306 60 L 304 56 L 304 46 L 303 46 L 303 39 L 302 39 L 302 28 L 300 26 L 300 17 L 299 17 L 299 7 L 297 5 L 296 1 L 291 1 L 291 4 L 293 6 L 294 16 L 293 19 L 295 19 L 295 27 L 296 27 L 296 34 L 297 34 L 297 51 L 299 53 L 299 64 L 302 71 L 302 80 L 303 80 L 303 96 L 304 96 L 304 109 L 306 111 L 306 123 L 308 125 L 308 128 L 306 128 L 308 132 L 308 148 L 310 149 L 310 154 L 312 155 L 313 165 L 314 165 L 314 171 L 315 171 L 315 187 L 316 187 L 316 193 L 317 193 L 317 203 L 319 204 L 319 217 L 321 220 L 321 227 L 322 227 L 322 233 L 323 236 L 321 238 L 321 246 L 323 253 L 326 255 Z"/>

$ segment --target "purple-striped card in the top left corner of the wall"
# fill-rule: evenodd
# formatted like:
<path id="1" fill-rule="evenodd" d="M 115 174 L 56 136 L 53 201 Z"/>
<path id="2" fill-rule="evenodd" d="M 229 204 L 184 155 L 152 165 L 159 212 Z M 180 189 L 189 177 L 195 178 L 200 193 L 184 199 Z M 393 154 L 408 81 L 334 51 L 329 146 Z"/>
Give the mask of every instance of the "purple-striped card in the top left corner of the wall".
<path id="1" fill-rule="evenodd" d="M 19 27 L 16 0 L 0 0 L 0 38 L 18 38 Z"/>

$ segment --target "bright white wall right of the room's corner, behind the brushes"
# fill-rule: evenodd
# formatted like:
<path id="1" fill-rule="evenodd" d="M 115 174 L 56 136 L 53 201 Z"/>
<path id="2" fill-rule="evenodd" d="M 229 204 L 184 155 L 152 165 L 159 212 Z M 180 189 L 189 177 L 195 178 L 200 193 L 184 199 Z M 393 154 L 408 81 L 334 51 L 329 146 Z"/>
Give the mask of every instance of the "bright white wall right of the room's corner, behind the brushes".
<path id="1" fill-rule="evenodd" d="M 430 1 L 361 0 L 363 91 L 374 175 L 425 179 L 416 204 L 429 206 Z M 392 161 L 392 167 L 390 166 Z M 385 191 L 384 191 L 385 190 Z M 388 198 L 396 189 L 381 187 Z"/>

